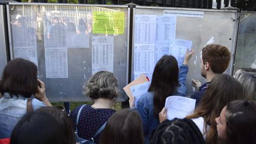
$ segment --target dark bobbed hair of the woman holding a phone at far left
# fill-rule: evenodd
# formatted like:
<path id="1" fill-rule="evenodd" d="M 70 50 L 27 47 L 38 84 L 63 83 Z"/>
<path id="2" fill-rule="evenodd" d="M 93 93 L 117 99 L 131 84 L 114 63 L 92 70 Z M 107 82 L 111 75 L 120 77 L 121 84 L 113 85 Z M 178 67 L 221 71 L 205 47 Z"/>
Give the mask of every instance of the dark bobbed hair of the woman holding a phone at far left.
<path id="1" fill-rule="evenodd" d="M 31 97 L 38 92 L 37 66 L 29 60 L 12 59 L 5 66 L 0 80 L 0 92 Z"/>

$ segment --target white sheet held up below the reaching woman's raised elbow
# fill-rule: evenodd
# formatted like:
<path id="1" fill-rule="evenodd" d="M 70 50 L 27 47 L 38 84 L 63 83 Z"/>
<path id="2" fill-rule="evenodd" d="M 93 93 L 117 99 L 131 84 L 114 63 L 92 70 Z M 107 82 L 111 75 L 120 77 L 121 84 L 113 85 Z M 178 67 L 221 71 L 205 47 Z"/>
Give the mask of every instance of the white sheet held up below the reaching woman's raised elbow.
<path id="1" fill-rule="evenodd" d="M 175 117 L 183 119 L 185 116 L 194 113 L 196 100 L 181 96 L 169 96 L 165 100 L 167 108 L 167 119 L 172 120 Z"/>

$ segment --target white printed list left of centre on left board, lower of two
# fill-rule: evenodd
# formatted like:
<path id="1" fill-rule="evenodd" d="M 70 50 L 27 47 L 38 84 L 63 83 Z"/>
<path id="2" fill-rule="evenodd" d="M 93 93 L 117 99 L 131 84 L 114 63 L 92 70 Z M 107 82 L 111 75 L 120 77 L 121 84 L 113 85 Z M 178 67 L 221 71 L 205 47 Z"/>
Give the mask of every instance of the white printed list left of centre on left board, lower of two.
<path id="1" fill-rule="evenodd" d="M 68 78 L 68 50 L 45 49 L 46 78 Z"/>

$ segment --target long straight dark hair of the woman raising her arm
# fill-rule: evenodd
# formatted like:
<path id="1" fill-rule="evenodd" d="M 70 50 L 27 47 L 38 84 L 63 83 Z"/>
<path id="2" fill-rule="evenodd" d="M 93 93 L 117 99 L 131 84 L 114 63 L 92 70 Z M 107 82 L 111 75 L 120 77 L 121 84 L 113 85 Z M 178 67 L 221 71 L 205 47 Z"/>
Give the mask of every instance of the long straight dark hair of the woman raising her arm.
<path id="1" fill-rule="evenodd" d="M 178 63 L 174 56 L 163 56 L 156 63 L 153 71 L 152 82 L 148 91 L 153 92 L 154 116 L 164 108 L 165 99 L 174 94 L 178 83 Z"/>

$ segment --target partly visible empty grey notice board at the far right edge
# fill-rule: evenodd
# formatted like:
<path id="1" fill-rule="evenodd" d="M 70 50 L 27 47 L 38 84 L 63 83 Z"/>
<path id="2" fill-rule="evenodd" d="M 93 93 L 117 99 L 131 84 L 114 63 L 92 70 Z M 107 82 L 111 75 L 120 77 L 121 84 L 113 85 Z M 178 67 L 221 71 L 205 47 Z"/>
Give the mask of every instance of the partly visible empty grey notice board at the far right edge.
<path id="1" fill-rule="evenodd" d="M 256 69 L 256 12 L 241 11 L 233 74 L 241 68 Z"/>

